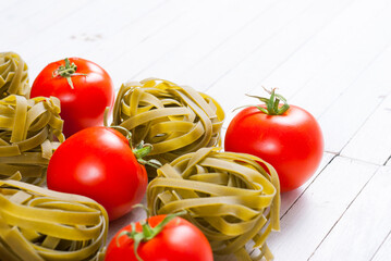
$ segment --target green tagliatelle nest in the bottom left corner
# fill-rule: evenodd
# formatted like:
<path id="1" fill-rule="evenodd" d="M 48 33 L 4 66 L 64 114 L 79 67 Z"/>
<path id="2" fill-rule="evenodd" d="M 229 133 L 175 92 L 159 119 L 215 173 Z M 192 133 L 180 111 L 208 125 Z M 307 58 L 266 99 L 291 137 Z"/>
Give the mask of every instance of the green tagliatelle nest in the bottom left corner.
<path id="1" fill-rule="evenodd" d="M 0 261 L 103 260 L 108 215 L 94 200 L 5 179 L 0 206 Z"/>

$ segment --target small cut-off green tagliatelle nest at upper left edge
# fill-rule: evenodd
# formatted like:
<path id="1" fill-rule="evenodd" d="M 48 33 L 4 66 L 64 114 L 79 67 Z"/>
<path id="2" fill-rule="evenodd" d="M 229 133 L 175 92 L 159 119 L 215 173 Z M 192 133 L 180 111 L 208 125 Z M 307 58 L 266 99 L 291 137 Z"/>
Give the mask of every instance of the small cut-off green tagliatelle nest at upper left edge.
<path id="1" fill-rule="evenodd" d="M 0 52 L 0 99 L 9 95 L 29 96 L 28 67 L 14 52 Z"/>

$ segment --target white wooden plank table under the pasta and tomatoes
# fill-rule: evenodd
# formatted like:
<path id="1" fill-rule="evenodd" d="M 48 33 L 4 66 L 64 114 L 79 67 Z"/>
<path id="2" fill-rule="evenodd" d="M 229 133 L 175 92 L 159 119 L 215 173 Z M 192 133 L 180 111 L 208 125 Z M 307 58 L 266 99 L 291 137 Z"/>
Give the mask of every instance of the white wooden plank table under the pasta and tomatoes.
<path id="1" fill-rule="evenodd" d="M 276 260 L 391 260 L 391 1 L 0 3 L 0 51 L 20 53 L 30 80 L 82 57 L 117 88 L 154 76 L 215 97 L 224 128 L 245 92 L 279 87 L 316 116 L 326 148 L 314 177 L 282 195 Z M 113 222 L 111 235 L 140 217 Z"/>

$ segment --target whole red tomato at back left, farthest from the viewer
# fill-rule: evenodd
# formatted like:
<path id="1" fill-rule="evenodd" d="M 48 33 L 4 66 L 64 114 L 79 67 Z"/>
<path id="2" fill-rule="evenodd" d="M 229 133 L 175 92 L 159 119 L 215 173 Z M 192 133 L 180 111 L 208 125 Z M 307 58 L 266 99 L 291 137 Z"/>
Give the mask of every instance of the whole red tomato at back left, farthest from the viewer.
<path id="1" fill-rule="evenodd" d="M 54 96 L 61 101 L 65 137 L 102 125 L 107 107 L 114 100 L 109 74 L 94 62 L 70 58 L 48 64 L 36 77 L 30 97 Z"/>

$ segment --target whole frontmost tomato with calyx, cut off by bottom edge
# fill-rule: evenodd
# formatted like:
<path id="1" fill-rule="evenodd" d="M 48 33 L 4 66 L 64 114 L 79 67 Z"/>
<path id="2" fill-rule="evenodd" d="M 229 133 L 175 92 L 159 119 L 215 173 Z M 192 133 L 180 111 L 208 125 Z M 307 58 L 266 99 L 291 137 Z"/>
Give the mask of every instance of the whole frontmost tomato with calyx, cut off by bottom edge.
<path id="1" fill-rule="evenodd" d="M 148 216 L 123 227 L 110 241 L 105 261 L 212 261 L 208 239 L 179 216 L 184 213 Z"/>

